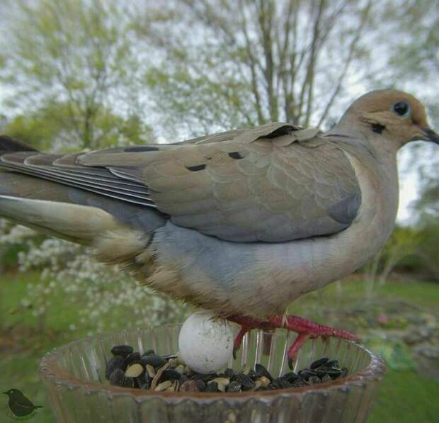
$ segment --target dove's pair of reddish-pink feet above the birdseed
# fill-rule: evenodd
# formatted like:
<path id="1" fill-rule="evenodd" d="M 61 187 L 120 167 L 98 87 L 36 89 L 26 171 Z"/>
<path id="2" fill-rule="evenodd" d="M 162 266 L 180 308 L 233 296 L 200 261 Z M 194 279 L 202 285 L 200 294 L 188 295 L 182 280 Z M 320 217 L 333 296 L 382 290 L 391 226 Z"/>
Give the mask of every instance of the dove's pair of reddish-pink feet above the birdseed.
<path id="1" fill-rule="evenodd" d="M 246 316 L 229 316 L 227 320 L 241 325 L 241 330 L 234 340 L 233 355 L 236 358 L 236 351 L 241 346 L 244 335 L 251 329 L 275 329 L 284 328 L 297 332 L 297 338 L 288 349 L 288 364 L 292 368 L 292 363 L 297 359 L 297 353 L 304 342 L 309 338 L 317 337 L 338 337 L 356 341 L 357 337 L 343 329 L 335 329 L 333 327 L 319 325 L 298 316 L 270 316 L 267 320 L 257 320 Z"/>

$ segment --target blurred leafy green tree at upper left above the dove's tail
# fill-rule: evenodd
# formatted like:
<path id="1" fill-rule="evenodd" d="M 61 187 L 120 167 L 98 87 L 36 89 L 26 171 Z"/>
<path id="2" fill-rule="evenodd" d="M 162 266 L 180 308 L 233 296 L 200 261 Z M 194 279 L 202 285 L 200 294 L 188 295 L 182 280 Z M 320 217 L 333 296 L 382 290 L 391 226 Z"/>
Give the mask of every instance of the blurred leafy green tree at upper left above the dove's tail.
<path id="1" fill-rule="evenodd" d="M 10 88 L 13 115 L 42 111 L 47 125 L 64 128 L 64 137 L 81 148 L 108 145 L 108 132 L 127 132 L 132 123 L 140 128 L 141 66 L 127 7 L 99 0 L 17 1 L 8 13 L 0 81 Z"/>

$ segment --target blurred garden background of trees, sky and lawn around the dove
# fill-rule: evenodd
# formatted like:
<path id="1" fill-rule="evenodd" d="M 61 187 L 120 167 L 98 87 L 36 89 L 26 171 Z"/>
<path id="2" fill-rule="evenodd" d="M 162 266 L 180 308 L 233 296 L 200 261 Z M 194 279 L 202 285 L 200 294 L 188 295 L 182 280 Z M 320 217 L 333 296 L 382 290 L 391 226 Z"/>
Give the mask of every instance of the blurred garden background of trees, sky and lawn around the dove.
<path id="1" fill-rule="evenodd" d="M 47 151 L 177 142 L 274 120 L 326 130 L 370 89 L 439 128 L 436 0 L 1 0 L 0 133 Z M 439 415 L 439 150 L 399 153 L 397 228 L 370 264 L 290 312 L 355 332 L 388 365 L 370 422 Z M 44 405 L 46 351 L 190 310 L 82 247 L 0 220 L 0 392 Z M 6 395 L 0 397 L 0 421 Z"/>

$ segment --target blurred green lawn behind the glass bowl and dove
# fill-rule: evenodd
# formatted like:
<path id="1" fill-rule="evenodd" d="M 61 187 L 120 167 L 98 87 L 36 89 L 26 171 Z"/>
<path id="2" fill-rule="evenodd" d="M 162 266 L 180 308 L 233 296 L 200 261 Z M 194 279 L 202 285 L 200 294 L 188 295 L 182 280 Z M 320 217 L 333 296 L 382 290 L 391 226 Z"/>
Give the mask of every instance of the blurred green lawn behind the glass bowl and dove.
<path id="1" fill-rule="evenodd" d="M 55 417 L 38 376 L 38 363 L 45 352 L 83 337 L 90 328 L 81 326 L 78 321 L 77 305 L 55 293 L 45 330 L 38 332 L 33 309 L 21 305 L 21 300 L 26 296 L 26 283 L 35 283 L 38 277 L 37 273 L 0 275 L 0 392 L 9 388 L 22 390 L 36 405 L 44 406 L 32 421 L 51 423 L 55 422 Z M 333 324 L 331 310 L 365 307 L 364 292 L 364 283 L 359 279 L 333 283 L 320 291 L 304 295 L 292 305 L 290 311 Z M 375 300 L 377 298 L 390 301 L 399 298 L 434 310 L 439 304 L 439 286 L 418 282 L 388 283 L 377 287 Z M 70 331 L 71 324 L 78 329 Z M 368 423 L 435 422 L 439 415 L 438 397 L 438 380 L 416 371 L 389 369 Z M 0 395 L 0 422 L 8 421 L 7 410 L 6 395 Z"/>

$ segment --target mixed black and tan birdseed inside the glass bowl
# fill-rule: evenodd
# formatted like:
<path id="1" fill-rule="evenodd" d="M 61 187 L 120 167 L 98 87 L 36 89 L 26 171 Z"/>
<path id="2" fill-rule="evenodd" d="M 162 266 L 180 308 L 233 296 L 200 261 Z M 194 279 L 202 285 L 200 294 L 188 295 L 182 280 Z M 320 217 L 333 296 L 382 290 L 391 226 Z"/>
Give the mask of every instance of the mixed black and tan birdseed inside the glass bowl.
<path id="1" fill-rule="evenodd" d="M 111 385 L 161 392 L 240 393 L 261 390 L 300 388 L 329 383 L 348 375 L 338 360 L 322 357 L 297 373 L 290 371 L 274 378 L 265 366 L 249 364 L 238 371 L 226 368 L 207 375 L 196 373 L 178 357 L 178 354 L 159 356 L 154 349 L 144 354 L 135 352 L 130 345 L 116 345 L 106 365 L 105 376 Z"/>

